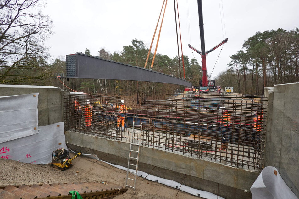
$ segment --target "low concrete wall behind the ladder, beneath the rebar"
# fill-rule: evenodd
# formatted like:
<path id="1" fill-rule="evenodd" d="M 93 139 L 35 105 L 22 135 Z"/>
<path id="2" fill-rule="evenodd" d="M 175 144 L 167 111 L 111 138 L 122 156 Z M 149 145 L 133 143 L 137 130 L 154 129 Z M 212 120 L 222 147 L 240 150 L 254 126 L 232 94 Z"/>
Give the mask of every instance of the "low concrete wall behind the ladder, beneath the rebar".
<path id="1" fill-rule="evenodd" d="M 112 164 L 127 167 L 130 144 L 121 141 L 112 141 L 77 132 L 66 131 L 67 145 L 82 152 L 95 153 L 99 158 Z M 223 164 L 209 162 L 203 159 L 194 159 L 184 155 L 166 152 L 163 150 L 142 147 L 140 149 L 138 170 L 152 175 L 182 182 L 186 174 L 184 185 L 209 191 L 224 198 L 251 198 L 251 185 L 259 172 L 237 169 Z M 136 186 L 138 187 L 138 186 Z"/>

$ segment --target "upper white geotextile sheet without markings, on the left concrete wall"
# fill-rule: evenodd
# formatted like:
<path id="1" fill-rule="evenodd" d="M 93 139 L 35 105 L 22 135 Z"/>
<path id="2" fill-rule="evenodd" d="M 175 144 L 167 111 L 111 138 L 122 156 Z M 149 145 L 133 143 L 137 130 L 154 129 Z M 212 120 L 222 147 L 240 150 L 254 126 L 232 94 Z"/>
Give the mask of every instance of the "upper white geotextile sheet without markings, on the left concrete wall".
<path id="1" fill-rule="evenodd" d="M 0 143 L 38 133 L 38 94 L 0 97 Z"/>

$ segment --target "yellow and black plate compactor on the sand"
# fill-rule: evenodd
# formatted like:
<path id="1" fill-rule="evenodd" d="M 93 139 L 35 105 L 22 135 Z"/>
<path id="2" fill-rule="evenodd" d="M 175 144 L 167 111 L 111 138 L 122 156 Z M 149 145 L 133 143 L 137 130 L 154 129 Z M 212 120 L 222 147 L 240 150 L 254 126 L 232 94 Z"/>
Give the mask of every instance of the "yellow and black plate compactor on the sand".
<path id="1" fill-rule="evenodd" d="M 69 151 L 64 148 L 59 148 L 52 152 L 52 167 L 55 167 L 59 170 L 65 170 L 69 168 L 72 165 L 72 160 L 77 158 L 79 155 L 81 155 L 81 152 L 79 152 L 77 155 L 75 155 L 73 158 L 69 156 Z"/>

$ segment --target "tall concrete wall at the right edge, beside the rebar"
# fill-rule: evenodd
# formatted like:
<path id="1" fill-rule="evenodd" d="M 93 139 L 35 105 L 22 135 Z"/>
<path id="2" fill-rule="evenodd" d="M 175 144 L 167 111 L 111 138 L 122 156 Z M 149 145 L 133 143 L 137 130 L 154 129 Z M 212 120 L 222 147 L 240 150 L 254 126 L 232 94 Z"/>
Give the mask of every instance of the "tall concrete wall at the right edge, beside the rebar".
<path id="1" fill-rule="evenodd" d="M 266 88 L 265 96 L 268 118 L 264 165 L 276 167 L 299 197 L 299 82 Z"/>

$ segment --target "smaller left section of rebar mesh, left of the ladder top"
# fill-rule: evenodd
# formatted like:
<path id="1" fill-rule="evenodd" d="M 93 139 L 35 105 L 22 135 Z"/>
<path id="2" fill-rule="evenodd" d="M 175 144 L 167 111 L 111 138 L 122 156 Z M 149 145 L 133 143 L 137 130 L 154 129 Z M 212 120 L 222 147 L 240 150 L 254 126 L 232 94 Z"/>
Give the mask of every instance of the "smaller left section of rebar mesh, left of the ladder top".
<path id="1" fill-rule="evenodd" d="M 119 97 L 64 94 L 65 129 L 120 140 L 121 131 L 116 129 L 118 111 L 113 108 L 119 101 Z M 88 104 L 90 109 L 85 108 Z"/>

